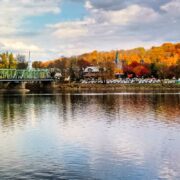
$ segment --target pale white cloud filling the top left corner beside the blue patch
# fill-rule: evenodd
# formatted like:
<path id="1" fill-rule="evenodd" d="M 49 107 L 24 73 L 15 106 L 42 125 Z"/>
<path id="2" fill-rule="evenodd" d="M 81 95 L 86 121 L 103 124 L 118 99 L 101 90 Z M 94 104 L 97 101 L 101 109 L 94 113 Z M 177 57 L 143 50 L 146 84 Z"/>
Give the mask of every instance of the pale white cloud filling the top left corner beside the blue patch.
<path id="1" fill-rule="evenodd" d="M 61 0 L 2 0 L 0 3 L 0 35 L 12 35 L 22 28 L 26 17 L 59 13 Z"/>

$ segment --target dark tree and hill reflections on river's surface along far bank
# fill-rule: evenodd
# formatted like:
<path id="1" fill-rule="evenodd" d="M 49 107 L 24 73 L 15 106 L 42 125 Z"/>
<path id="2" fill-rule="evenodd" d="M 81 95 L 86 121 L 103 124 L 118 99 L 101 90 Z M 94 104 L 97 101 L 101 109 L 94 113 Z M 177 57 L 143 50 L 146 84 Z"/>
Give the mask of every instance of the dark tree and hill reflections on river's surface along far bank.
<path id="1" fill-rule="evenodd" d="M 121 116 L 136 117 L 136 120 L 145 120 L 149 113 L 153 120 L 164 121 L 165 123 L 180 123 L 180 95 L 88 95 L 79 94 L 61 94 L 61 95 L 13 95 L 1 96 L 0 101 L 0 119 L 4 127 L 11 127 L 18 121 L 25 123 L 30 116 L 41 114 L 42 110 L 49 105 L 63 115 L 63 121 L 75 119 L 76 114 L 81 112 L 106 113 L 108 120 L 113 121 L 115 113 Z M 57 107 L 59 107 L 57 109 Z M 100 110 L 100 111 L 99 111 Z M 78 111 L 78 112 L 77 112 Z M 97 112 L 97 113 L 96 113 Z M 24 118 L 22 118 L 22 115 Z M 94 116 L 93 115 L 93 116 Z M 112 116 L 111 116 L 112 115 Z M 111 118 L 112 117 L 112 118 Z M 32 117 L 32 119 L 35 119 Z M 134 119 L 134 118 L 133 118 Z"/>

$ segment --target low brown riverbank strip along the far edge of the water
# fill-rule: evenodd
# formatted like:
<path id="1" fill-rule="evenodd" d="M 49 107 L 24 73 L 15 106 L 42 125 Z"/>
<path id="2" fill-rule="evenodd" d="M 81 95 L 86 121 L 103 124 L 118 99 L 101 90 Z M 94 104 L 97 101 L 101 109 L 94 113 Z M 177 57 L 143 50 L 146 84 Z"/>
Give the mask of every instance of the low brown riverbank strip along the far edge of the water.
<path id="1" fill-rule="evenodd" d="M 36 85 L 28 85 L 25 89 L 0 88 L 0 93 L 13 92 L 177 92 L 180 91 L 180 84 L 81 84 L 81 83 L 56 83 L 49 88 L 41 88 Z"/>

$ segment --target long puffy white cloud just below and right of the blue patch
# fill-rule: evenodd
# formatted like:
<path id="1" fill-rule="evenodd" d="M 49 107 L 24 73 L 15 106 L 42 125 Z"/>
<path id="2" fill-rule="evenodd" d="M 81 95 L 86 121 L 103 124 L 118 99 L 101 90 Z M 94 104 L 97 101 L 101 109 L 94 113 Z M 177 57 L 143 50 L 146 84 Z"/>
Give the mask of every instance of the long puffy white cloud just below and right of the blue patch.
<path id="1" fill-rule="evenodd" d="M 89 1 L 87 1 L 90 7 Z M 113 25 L 128 25 L 129 23 L 140 23 L 142 18 L 147 16 L 146 22 L 156 20 L 158 14 L 154 10 L 140 7 L 138 5 L 129 6 L 119 11 L 96 11 L 90 9 L 90 17 L 79 21 L 69 21 L 48 25 L 52 34 L 59 39 L 74 39 L 89 37 L 91 35 L 111 35 L 114 32 Z"/>

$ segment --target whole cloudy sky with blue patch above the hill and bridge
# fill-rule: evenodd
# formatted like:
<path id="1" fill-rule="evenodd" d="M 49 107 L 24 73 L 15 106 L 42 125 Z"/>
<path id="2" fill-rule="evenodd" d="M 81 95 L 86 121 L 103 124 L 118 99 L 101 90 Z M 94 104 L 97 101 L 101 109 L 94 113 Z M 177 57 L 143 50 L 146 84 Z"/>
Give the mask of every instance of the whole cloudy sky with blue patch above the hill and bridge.
<path id="1" fill-rule="evenodd" d="M 0 51 L 33 60 L 180 40 L 180 0 L 0 0 Z"/>

